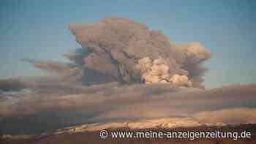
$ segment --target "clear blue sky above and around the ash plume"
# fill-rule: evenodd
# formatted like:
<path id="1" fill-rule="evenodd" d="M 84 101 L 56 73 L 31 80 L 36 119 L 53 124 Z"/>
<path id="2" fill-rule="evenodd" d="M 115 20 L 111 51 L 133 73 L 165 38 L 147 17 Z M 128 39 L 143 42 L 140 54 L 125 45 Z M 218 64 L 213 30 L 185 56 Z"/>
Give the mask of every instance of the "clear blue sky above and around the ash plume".
<path id="1" fill-rule="evenodd" d="M 162 30 L 171 42 L 201 42 L 211 50 L 206 88 L 256 82 L 256 1 L 0 1 L 0 78 L 44 75 L 20 58 L 67 61 L 78 48 L 67 23 L 106 15 Z"/>

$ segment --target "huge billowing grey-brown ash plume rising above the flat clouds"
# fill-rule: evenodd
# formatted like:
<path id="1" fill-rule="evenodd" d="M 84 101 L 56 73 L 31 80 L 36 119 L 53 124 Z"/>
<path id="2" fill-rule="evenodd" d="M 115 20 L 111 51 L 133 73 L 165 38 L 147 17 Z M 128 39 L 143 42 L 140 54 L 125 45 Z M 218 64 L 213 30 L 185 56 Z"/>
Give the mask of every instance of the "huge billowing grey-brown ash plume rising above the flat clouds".
<path id="1" fill-rule="evenodd" d="M 206 71 L 201 63 L 210 58 L 211 53 L 203 48 L 200 43 L 176 45 L 169 42 L 160 31 L 150 31 L 145 24 L 137 23 L 126 18 L 107 17 L 93 24 L 69 24 L 69 29 L 82 45 L 83 51 L 88 53 L 83 56 L 67 54 L 66 56 L 75 63 L 82 64 L 86 73 L 91 70 L 104 75 L 102 82 L 121 81 L 126 83 L 136 82 L 171 82 L 173 75 L 182 76 L 187 81 L 186 86 L 203 87 L 202 75 Z M 151 67 L 146 73 L 138 69 L 139 61 L 149 58 L 151 61 L 164 59 L 162 68 L 165 75 L 159 73 L 152 75 L 148 71 L 159 69 Z M 155 70 L 156 70 L 155 69 Z M 151 77 L 148 78 L 145 77 Z M 162 78 L 165 77 L 165 78 Z M 152 78 L 153 77 L 153 78 Z M 98 80 L 98 77 L 95 77 Z M 188 79 L 188 80 L 187 80 Z M 182 81 L 181 80 L 181 81 Z M 91 78 L 93 82 L 94 79 Z M 99 81 L 100 82 L 100 81 Z M 177 82 L 177 80 L 176 80 Z"/>

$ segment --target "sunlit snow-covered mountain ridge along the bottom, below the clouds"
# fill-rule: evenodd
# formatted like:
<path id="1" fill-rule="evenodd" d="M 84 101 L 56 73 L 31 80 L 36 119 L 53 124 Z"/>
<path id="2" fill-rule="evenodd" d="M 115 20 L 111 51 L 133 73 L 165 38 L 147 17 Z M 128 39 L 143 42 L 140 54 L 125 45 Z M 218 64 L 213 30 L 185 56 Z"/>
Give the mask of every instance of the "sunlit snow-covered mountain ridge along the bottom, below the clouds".
<path id="1" fill-rule="evenodd" d="M 195 118 L 157 118 L 140 121 L 116 121 L 109 123 L 81 124 L 69 126 L 64 129 L 57 129 L 55 132 L 31 134 L 31 135 L 10 135 L 4 134 L 3 138 L 28 139 L 31 137 L 44 137 L 46 135 L 78 133 L 78 132 L 96 132 L 102 129 L 173 129 L 178 127 L 197 127 L 197 126 L 226 126 L 224 123 L 205 124 L 197 121 Z"/>

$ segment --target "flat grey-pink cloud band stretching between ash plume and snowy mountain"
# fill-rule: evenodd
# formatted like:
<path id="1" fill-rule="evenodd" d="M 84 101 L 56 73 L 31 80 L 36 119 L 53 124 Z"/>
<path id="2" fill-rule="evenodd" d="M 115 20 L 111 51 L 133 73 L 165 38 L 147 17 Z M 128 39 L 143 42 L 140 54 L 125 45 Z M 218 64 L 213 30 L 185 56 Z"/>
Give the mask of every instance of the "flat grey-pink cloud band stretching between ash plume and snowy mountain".
<path id="1" fill-rule="evenodd" d="M 39 88 L 39 87 L 37 87 Z M 56 87 L 61 88 L 61 86 Z M 67 87 L 63 87 L 65 89 Z M 76 88 L 76 93 L 72 89 Z M 211 122 L 252 122 L 255 117 L 256 86 L 231 86 L 212 90 L 170 87 L 167 84 L 120 86 L 117 83 L 70 87 L 69 94 L 23 94 L 1 102 L 1 117 L 34 115 L 48 111 L 82 110 L 69 113 L 77 122 L 187 116 Z M 50 89 L 49 89 L 50 90 Z M 51 89 L 55 91 L 54 89 Z M 1 94 L 3 96 L 3 94 Z M 244 108 L 243 108 L 244 107 Z M 250 110 L 252 108 L 252 110 Z M 227 109 L 227 110 L 226 110 Z M 226 111 L 222 111 L 226 110 Z M 238 112 L 239 114 L 235 115 Z M 229 115 L 228 115 L 229 113 Z M 83 115 L 87 115 L 83 118 Z M 77 118 L 72 118 L 76 116 Z M 239 121 L 235 121 L 235 119 Z"/>

